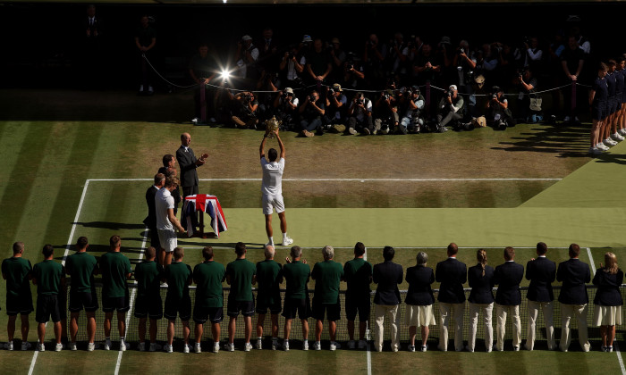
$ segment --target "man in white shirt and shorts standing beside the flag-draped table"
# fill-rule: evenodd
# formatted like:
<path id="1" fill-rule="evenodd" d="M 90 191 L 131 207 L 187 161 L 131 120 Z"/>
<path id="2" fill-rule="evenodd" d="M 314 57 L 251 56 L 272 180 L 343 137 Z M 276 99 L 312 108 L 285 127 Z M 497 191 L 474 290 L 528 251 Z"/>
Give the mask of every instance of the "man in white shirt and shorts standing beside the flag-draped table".
<path id="1" fill-rule="evenodd" d="M 157 214 L 157 231 L 158 240 L 161 249 L 158 254 L 158 262 L 165 265 L 172 262 L 173 249 L 178 246 L 178 239 L 174 227 L 185 233 L 185 229 L 176 216 L 173 214 L 173 196 L 172 191 L 178 187 L 178 179 L 168 177 L 165 179 L 165 186 L 157 191 L 155 196 L 155 212 Z"/>

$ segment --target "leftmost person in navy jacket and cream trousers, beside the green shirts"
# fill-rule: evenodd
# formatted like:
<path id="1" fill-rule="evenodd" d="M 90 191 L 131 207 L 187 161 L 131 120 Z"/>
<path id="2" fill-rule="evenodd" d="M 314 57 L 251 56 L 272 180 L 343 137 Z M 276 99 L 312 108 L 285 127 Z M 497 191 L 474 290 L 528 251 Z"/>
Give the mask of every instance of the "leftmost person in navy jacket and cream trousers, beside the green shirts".
<path id="1" fill-rule="evenodd" d="M 385 262 L 374 265 L 372 275 L 373 281 L 378 284 L 376 295 L 374 296 L 374 314 L 376 315 L 376 341 L 374 343 L 376 352 L 383 350 L 383 326 L 385 314 L 389 313 L 391 319 L 392 350 L 397 352 L 400 349 L 400 314 L 398 305 L 400 300 L 400 290 L 398 284 L 402 284 L 404 271 L 402 265 L 394 263 L 393 256 L 395 250 L 392 246 L 385 246 L 383 249 L 383 259 Z"/>

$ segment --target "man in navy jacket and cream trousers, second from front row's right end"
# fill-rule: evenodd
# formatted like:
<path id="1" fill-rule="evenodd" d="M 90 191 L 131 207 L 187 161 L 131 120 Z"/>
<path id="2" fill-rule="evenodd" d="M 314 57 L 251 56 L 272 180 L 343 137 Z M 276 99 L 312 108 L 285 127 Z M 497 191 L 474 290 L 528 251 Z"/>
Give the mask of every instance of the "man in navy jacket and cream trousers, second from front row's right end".
<path id="1" fill-rule="evenodd" d="M 563 282 L 559 302 L 561 303 L 561 341 L 559 347 L 567 352 L 570 347 L 570 321 L 576 315 L 579 326 L 579 343 L 583 352 L 588 352 L 591 345 L 587 332 L 587 304 L 589 297 L 585 283 L 591 281 L 591 272 L 587 263 L 580 262 L 580 246 L 571 244 L 570 259 L 559 263 L 556 270 L 556 280 Z"/>

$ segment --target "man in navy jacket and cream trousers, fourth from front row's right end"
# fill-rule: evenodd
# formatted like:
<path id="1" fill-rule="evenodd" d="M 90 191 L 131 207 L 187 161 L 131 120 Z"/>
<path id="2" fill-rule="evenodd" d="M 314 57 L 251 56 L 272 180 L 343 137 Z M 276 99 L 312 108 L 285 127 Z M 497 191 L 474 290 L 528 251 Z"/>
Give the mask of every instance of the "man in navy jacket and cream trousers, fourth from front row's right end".
<path id="1" fill-rule="evenodd" d="M 495 292 L 495 347 L 499 351 L 504 350 L 504 331 L 506 327 L 506 315 L 511 314 L 513 323 L 513 350 L 520 350 L 521 321 L 520 321 L 520 282 L 524 278 L 524 266 L 515 262 L 515 249 L 507 246 L 504 249 L 504 263 L 495 267 L 494 280 L 498 286 Z"/>

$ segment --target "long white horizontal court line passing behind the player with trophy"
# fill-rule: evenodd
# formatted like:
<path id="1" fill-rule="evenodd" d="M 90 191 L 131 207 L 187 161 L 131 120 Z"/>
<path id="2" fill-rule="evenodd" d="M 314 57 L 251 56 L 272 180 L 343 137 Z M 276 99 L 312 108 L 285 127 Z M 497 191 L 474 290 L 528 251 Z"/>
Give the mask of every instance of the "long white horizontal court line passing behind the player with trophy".
<path id="1" fill-rule="evenodd" d="M 153 179 L 88 179 L 88 181 L 152 181 Z M 199 179 L 200 181 L 261 181 L 261 179 Z M 283 181 L 320 181 L 320 182 L 436 182 L 436 181 L 560 181 L 562 179 L 283 179 Z"/>

